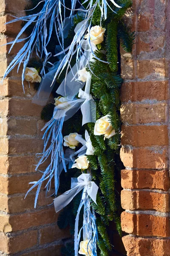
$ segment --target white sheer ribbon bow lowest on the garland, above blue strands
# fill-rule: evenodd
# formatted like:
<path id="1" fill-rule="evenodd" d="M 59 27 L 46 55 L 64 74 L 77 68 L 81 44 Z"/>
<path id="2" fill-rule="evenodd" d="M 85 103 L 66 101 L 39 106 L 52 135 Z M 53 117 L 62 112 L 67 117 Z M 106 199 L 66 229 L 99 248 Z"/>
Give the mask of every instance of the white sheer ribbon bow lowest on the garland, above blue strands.
<path id="1" fill-rule="evenodd" d="M 94 181 L 91 181 L 90 174 L 83 173 L 78 178 L 71 178 L 71 189 L 54 199 L 56 212 L 59 212 L 67 206 L 82 189 L 84 193 L 83 195 L 87 192 L 96 204 L 96 196 L 99 187 Z"/>

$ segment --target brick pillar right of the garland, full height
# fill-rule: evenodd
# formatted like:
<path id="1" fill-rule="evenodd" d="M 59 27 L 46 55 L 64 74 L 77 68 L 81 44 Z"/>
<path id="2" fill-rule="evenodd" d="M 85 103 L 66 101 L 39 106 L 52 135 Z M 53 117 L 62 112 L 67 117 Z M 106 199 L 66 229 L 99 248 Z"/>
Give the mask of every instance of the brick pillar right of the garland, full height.
<path id="1" fill-rule="evenodd" d="M 122 52 L 123 243 L 127 256 L 170 256 L 170 3 L 133 2 L 136 44 Z"/>

